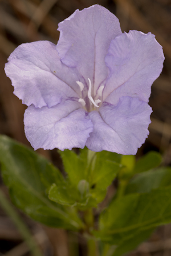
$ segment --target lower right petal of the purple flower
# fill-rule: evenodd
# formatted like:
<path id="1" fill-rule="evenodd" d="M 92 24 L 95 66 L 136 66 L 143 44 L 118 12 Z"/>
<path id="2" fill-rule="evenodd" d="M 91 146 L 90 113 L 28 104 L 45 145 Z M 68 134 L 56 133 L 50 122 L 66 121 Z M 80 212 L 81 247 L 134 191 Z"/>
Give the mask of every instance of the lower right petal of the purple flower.
<path id="1" fill-rule="evenodd" d="M 104 104 L 89 117 L 93 132 L 86 146 L 92 151 L 107 150 L 119 154 L 136 154 L 149 134 L 151 107 L 137 98 L 121 97 L 116 106 Z"/>

